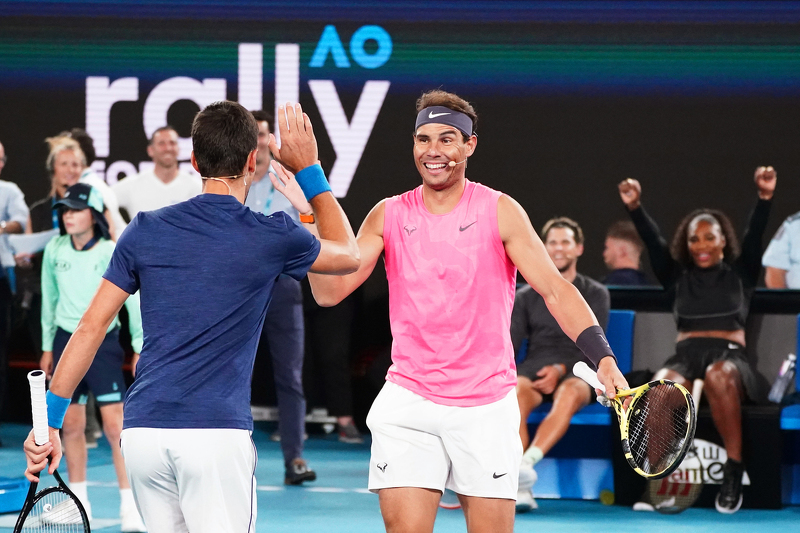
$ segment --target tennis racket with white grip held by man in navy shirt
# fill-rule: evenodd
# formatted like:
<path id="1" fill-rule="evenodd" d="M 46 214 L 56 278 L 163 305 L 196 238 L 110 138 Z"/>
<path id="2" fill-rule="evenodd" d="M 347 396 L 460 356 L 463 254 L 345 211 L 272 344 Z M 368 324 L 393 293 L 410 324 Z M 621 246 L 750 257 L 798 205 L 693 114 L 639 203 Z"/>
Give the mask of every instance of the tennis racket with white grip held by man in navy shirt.
<path id="1" fill-rule="evenodd" d="M 28 374 L 31 386 L 31 410 L 33 412 L 33 438 L 41 446 L 49 441 L 47 429 L 47 403 L 44 392 L 44 372 L 34 370 Z M 42 472 L 43 473 L 43 472 Z M 40 474 L 41 476 L 41 474 Z M 89 533 L 89 519 L 80 500 L 72 493 L 64 480 L 53 471 L 58 483 L 36 491 L 38 483 L 31 482 L 25 504 L 14 526 L 14 533 Z"/>

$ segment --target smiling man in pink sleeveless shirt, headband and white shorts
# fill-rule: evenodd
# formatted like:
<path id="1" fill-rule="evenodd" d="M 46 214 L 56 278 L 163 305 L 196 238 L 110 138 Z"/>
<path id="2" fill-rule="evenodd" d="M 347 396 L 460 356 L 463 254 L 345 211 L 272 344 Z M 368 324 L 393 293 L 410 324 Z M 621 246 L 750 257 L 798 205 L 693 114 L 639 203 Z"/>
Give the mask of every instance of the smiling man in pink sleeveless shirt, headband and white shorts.
<path id="1" fill-rule="evenodd" d="M 417 112 L 422 185 L 367 215 L 357 272 L 309 280 L 320 305 L 335 305 L 385 256 L 393 364 L 367 423 L 369 488 L 379 494 L 386 530 L 433 531 L 449 488 L 470 533 L 511 533 L 522 457 L 510 336 L 517 268 L 598 366 L 607 394 L 627 383 L 591 309 L 559 274 L 522 207 L 466 179 L 478 144 L 472 106 L 431 91 Z"/>

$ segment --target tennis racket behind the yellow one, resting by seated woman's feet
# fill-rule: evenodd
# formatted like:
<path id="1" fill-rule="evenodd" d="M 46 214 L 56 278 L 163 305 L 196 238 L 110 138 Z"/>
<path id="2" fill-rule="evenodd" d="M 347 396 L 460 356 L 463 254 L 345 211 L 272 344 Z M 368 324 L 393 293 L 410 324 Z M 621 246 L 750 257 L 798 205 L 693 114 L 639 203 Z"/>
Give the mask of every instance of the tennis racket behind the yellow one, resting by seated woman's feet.
<path id="1" fill-rule="evenodd" d="M 700 408 L 702 394 L 703 380 L 696 379 L 692 383 L 692 399 L 697 409 Z M 690 446 L 680 464 L 683 472 L 677 479 L 674 479 L 676 476 L 669 476 L 649 482 L 650 501 L 656 511 L 661 514 L 678 514 L 694 505 L 704 487 L 702 468 L 697 468 L 700 463 L 697 449 Z"/>

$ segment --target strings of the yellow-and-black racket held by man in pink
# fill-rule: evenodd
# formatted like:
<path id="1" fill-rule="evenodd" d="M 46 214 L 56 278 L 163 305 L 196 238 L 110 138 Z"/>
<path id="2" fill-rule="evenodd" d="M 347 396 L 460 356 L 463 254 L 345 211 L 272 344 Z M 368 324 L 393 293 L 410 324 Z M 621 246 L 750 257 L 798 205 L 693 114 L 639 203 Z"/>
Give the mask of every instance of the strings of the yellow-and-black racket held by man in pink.
<path id="1" fill-rule="evenodd" d="M 628 443 L 634 462 L 647 474 L 659 474 L 678 460 L 689 437 L 690 406 L 671 383 L 648 389 L 631 406 Z"/>

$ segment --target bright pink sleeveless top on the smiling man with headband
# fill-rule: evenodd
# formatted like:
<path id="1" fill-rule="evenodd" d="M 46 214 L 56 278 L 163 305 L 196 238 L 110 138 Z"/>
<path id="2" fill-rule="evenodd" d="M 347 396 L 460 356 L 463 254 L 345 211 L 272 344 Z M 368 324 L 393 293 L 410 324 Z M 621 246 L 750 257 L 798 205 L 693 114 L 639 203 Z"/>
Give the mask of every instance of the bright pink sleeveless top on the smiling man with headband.
<path id="1" fill-rule="evenodd" d="M 511 309 L 517 269 L 497 226 L 498 191 L 466 182 L 433 215 L 422 186 L 385 202 L 391 381 L 443 405 L 500 400 L 516 386 Z"/>

